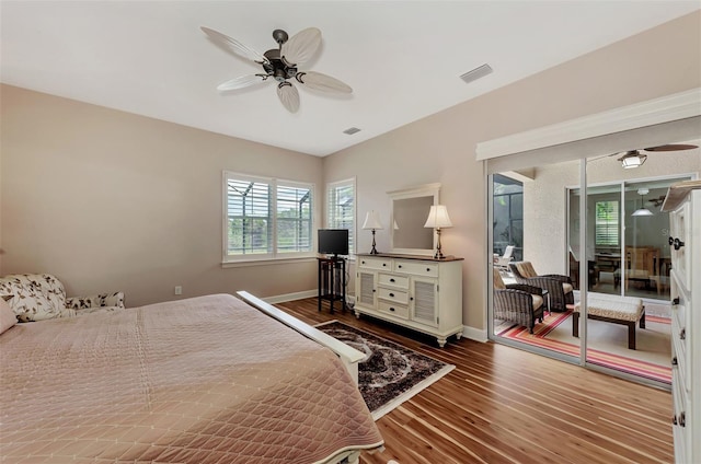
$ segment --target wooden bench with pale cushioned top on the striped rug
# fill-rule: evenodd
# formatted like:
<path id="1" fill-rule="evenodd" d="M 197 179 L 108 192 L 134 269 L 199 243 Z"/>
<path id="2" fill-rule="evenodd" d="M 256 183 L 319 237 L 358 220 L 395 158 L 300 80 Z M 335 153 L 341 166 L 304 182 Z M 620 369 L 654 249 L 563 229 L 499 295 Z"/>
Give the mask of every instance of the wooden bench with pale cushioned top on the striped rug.
<path id="1" fill-rule="evenodd" d="M 645 306 L 643 300 L 614 294 L 596 294 L 587 299 L 587 317 L 628 326 L 628 348 L 635 349 L 635 323 L 645 328 Z M 579 336 L 579 303 L 572 313 L 572 336 Z"/>

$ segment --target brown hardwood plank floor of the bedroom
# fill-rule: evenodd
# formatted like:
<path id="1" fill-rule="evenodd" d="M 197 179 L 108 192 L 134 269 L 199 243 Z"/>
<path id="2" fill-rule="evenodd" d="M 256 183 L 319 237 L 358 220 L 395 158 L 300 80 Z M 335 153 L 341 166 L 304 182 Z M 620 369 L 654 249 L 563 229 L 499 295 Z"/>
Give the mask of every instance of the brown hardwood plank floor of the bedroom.
<path id="1" fill-rule="evenodd" d="M 336 303 L 337 304 L 337 303 Z M 671 394 L 494 343 L 434 338 L 334 314 L 317 299 L 277 304 L 309 324 L 338 320 L 456 364 L 378 420 L 386 450 L 361 463 L 671 463 Z"/>

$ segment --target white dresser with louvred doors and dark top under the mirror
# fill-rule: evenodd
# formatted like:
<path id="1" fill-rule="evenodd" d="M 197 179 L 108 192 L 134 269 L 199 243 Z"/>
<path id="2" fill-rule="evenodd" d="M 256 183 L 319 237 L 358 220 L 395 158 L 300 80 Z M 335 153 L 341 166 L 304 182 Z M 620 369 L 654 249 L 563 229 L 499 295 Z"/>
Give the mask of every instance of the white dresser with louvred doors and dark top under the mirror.
<path id="1" fill-rule="evenodd" d="M 462 336 L 462 258 L 359 254 L 355 306 L 367 314 L 436 337 L 444 347 Z"/>

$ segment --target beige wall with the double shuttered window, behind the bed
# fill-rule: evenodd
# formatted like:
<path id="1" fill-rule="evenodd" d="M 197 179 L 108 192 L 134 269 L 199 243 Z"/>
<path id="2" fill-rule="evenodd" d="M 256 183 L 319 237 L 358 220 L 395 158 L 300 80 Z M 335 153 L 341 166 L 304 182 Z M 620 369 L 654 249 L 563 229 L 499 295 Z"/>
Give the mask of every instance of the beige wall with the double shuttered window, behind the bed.
<path id="1" fill-rule="evenodd" d="M 221 268 L 221 172 L 312 182 L 321 199 L 321 159 L 1 91 L 1 274 L 51 272 L 69 294 L 123 290 L 130 306 L 175 299 L 177 285 L 183 298 L 315 289 L 314 259 Z"/>

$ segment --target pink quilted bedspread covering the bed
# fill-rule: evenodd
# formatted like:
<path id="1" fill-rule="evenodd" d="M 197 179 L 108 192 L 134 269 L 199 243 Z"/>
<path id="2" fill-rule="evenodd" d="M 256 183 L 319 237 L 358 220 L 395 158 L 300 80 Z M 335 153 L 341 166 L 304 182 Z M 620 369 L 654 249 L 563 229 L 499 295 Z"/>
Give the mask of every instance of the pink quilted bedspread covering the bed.
<path id="1" fill-rule="evenodd" d="M 0 335 L 3 463 L 310 463 L 382 438 L 330 350 L 208 295 Z"/>

